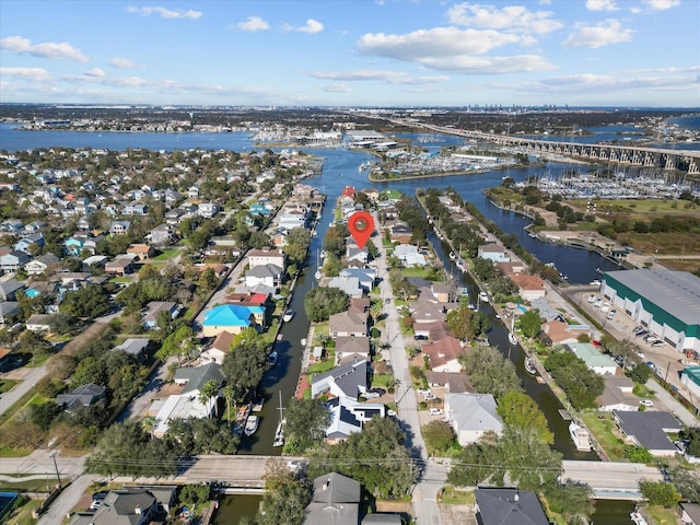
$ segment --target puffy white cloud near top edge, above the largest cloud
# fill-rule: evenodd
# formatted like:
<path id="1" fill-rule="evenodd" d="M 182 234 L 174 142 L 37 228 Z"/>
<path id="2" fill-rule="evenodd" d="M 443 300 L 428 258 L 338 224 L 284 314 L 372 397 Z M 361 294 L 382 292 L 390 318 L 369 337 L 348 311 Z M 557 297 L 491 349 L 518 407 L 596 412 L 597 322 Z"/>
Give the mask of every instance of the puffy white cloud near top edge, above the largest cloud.
<path id="1" fill-rule="evenodd" d="M 453 24 L 534 34 L 551 33 L 561 28 L 562 23 L 551 16 L 551 11 L 533 12 L 523 5 L 497 9 L 493 5 L 459 3 L 447 11 L 447 18 Z"/>

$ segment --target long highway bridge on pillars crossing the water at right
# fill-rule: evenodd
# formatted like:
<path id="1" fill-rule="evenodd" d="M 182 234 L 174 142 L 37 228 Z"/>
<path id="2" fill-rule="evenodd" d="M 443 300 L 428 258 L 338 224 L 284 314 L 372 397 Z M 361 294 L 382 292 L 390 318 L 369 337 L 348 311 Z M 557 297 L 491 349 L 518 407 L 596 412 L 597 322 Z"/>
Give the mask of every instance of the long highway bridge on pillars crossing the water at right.
<path id="1" fill-rule="evenodd" d="M 700 174 L 700 150 L 672 150 L 644 145 L 585 144 L 580 142 L 558 142 L 551 140 L 526 139 L 505 135 L 468 131 L 445 126 L 432 126 L 423 122 L 402 122 L 421 126 L 438 133 L 454 135 L 475 140 L 488 140 L 497 144 L 523 149 L 533 154 L 547 153 L 553 155 L 586 159 L 592 162 L 606 162 L 640 167 L 660 167 L 679 170 L 690 175 Z"/>

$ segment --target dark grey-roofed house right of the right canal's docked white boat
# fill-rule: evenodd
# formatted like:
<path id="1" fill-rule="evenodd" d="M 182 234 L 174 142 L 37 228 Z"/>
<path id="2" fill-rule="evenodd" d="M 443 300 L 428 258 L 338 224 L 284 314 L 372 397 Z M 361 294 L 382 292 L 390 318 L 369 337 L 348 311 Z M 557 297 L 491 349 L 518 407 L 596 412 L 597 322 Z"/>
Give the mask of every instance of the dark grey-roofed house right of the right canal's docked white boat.
<path id="1" fill-rule="evenodd" d="M 623 432 L 626 442 L 643 446 L 656 457 L 676 455 L 676 445 L 670 442 L 667 434 L 680 432 L 682 423 L 670 412 L 612 410 L 612 417 Z"/>

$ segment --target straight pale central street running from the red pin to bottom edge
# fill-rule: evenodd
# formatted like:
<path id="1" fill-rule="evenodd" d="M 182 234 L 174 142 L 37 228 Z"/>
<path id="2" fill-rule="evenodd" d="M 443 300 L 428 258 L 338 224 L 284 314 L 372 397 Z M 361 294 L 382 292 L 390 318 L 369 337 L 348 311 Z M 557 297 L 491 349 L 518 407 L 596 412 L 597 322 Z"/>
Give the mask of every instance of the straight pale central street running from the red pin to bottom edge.
<path id="1" fill-rule="evenodd" d="M 378 219 L 374 218 L 375 224 Z M 420 524 L 441 525 L 442 518 L 440 508 L 438 505 L 438 491 L 445 486 L 448 469 L 439 466 L 429 459 L 425 453 L 425 442 L 420 430 L 420 413 L 418 411 L 418 401 L 416 399 L 416 390 L 412 387 L 412 381 L 409 372 L 408 355 L 404 345 L 404 335 L 401 334 L 400 319 L 394 294 L 389 284 L 389 272 L 387 268 L 387 257 L 382 238 L 374 235 L 370 242 L 380 250 L 381 257 L 377 261 L 377 276 L 380 277 L 380 291 L 382 293 L 382 302 L 384 306 L 385 318 L 385 340 L 389 346 L 389 359 L 394 369 L 395 377 L 398 380 L 396 385 L 396 404 L 398 406 L 398 417 L 402 422 L 408 434 L 408 445 L 412 448 L 412 456 L 418 459 L 417 465 L 425 466 L 420 472 L 418 483 L 412 493 L 413 514 Z M 385 300 L 388 299 L 388 302 Z M 427 413 L 427 412 L 425 412 Z"/>

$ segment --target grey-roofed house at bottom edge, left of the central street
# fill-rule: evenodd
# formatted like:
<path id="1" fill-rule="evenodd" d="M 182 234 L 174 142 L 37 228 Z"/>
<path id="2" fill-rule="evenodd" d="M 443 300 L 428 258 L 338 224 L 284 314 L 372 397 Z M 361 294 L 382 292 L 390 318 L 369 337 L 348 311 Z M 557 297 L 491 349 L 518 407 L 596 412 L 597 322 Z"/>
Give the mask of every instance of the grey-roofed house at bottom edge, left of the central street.
<path id="1" fill-rule="evenodd" d="M 337 472 L 314 479 L 314 494 L 306 506 L 304 525 L 358 525 L 360 523 L 358 481 Z"/>

